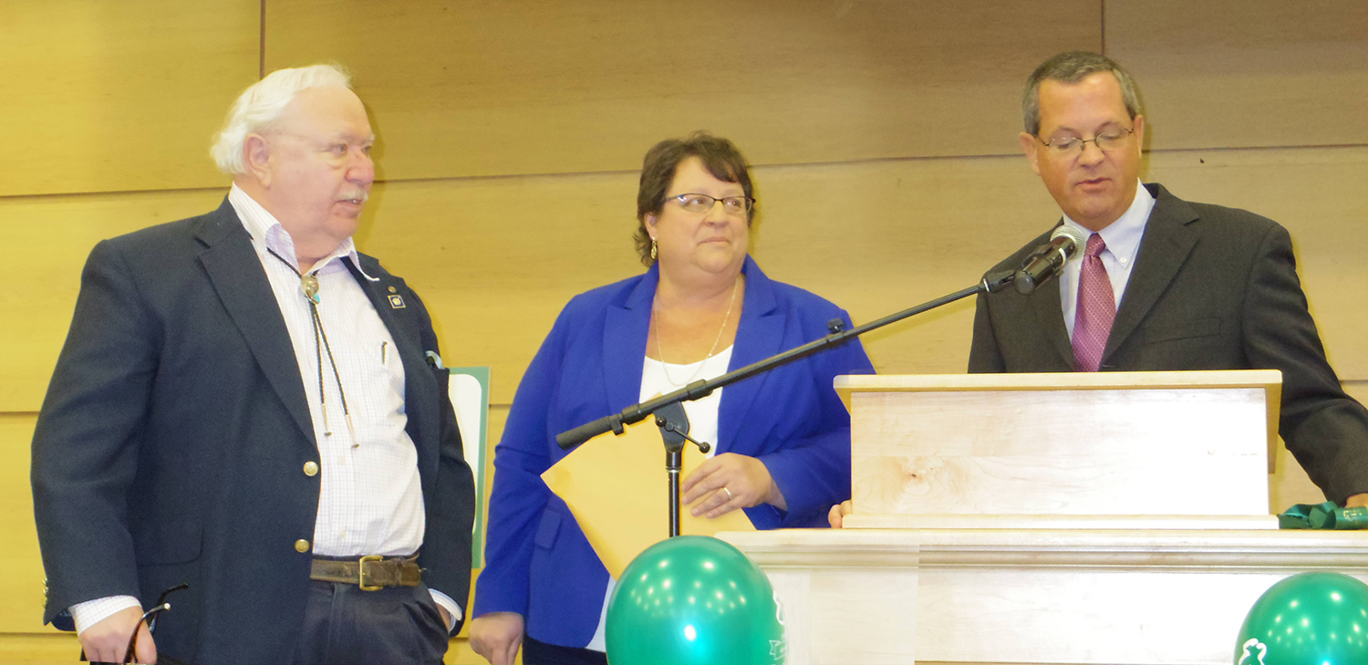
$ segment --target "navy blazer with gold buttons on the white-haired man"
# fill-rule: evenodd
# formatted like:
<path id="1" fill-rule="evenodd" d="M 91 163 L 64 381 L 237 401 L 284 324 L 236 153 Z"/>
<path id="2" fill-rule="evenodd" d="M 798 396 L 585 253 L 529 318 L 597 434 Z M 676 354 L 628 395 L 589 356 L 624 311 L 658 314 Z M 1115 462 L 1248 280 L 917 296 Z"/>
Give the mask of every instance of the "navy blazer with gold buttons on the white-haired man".
<path id="1" fill-rule="evenodd" d="M 350 265 L 353 274 L 356 267 Z M 402 358 L 427 509 L 424 582 L 465 603 L 475 494 L 424 352 L 423 302 L 375 259 L 357 279 Z M 393 291 L 391 291 L 393 289 Z M 397 309 L 390 294 L 404 298 Z M 157 651 L 194 664 L 290 662 L 304 618 L 319 476 L 304 383 L 233 207 L 100 242 L 33 439 L 45 621 L 109 595 L 152 603 Z"/>

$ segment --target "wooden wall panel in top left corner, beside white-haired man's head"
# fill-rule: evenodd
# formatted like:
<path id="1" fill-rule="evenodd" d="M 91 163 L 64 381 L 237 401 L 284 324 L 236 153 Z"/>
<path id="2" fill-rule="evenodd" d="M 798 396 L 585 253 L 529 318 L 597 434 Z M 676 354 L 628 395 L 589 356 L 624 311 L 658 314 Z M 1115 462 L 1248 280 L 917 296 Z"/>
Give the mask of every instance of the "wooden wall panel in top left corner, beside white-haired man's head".
<path id="1" fill-rule="evenodd" d="M 0 4 L 0 196 L 220 182 L 209 141 L 257 79 L 260 14 L 259 0 Z"/>

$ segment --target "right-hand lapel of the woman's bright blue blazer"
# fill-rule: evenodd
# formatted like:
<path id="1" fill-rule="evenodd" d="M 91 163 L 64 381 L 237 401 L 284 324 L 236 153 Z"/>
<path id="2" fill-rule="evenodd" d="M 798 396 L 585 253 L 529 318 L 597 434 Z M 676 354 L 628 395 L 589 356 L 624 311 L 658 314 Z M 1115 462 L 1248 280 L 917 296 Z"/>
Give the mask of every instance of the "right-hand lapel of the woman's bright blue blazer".
<path id="1" fill-rule="evenodd" d="M 744 271 L 746 300 L 741 304 L 741 320 L 736 328 L 736 343 L 732 348 L 728 372 L 765 360 L 782 350 L 784 345 L 784 316 L 778 311 L 774 285 L 750 256 L 746 257 Z M 770 374 L 773 372 L 733 383 L 722 390 L 722 404 L 717 412 L 718 453 L 735 446 L 736 434 Z"/>

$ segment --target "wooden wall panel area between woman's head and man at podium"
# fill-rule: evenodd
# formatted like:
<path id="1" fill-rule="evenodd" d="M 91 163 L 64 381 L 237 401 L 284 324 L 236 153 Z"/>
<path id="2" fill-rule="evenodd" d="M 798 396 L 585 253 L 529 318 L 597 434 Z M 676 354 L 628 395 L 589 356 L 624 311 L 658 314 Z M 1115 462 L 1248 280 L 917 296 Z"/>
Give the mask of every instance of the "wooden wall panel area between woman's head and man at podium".
<path id="1" fill-rule="evenodd" d="M 758 170 L 767 274 L 866 323 L 974 286 L 1049 229 L 1057 208 L 1023 157 L 896 160 Z M 863 338 L 880 374 L 956 374 L 974 300 Z"/>

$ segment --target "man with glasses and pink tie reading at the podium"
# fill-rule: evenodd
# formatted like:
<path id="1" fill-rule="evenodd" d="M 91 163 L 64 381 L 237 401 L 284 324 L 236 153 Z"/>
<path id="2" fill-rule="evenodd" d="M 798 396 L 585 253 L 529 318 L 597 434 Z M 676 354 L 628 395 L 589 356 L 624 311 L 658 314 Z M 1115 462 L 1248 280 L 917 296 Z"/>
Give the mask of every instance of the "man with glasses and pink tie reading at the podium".
<path id="1" fill-rule="evenodd" d="M 1326 361 L 1287 231 L 1141 186 L 1145 118 L 1104 56 L 1047 60 L 1022 107 L 1022 149 L 1088 248 L 1057 286 L 978 297 L 969 371 L 1280 369 L 1289 450 L 1326 497 L 1368 504 L 1368 410 Z M 1048 237 L 993 271 L 1019 268 Z"/>

